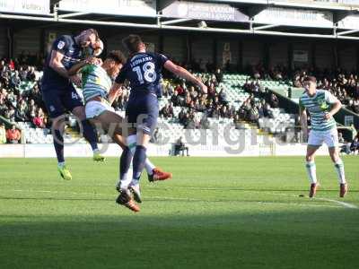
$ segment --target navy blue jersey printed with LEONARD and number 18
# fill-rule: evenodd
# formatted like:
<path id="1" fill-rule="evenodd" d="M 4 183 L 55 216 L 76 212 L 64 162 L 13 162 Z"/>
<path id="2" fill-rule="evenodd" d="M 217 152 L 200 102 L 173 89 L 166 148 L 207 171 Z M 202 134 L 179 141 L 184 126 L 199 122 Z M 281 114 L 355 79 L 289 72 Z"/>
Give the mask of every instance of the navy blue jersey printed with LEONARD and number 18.
<path id="1" fill-rule="evenodd" d="M 161 97 L 162 68 L 168 61 L 166 56 L 158 53 L 136 53 L 122 67 L 116 82 L 128 80 L 131 94 L 154 93 Z"/>

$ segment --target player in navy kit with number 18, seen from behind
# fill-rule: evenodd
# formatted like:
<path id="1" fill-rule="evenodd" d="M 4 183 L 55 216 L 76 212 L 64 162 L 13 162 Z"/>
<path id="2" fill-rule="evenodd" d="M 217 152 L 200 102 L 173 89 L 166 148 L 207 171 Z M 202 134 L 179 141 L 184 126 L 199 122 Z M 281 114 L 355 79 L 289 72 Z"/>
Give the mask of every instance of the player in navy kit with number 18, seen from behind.
<path id="1" fill-rule="evenodd" d="M 123 39 L 123 44 L 128 50 L 129 58 L 116 78 L 113 91 L 120 89 L 125 80 L 129 81 L 131 92 L 126 116 L 129 124 L 136 125 L 129 128 L 127 136 L 127 146 L 131 152 L 134 152 L 133 178 L 128 189 L 122 189 L 117 199 L 118 204 L 126 205 L 133 198 L 137 203 L 141 203 L 139 180 L 144 169 L 146 149 L 157 123 L 159 112 L 157 97 L 161 97 L 162 68 L 195 83 L 204 92 L 207 88 L 203 82 L 186 69 L 174 65 L 166 56 L 146 52 L 144 42 L 139 36 L 129 35 Z M 131 162 L 131 158 L 127 155 L 128 152 L 124 151 L 121 156 L 124 173 L 129 169 Z M 133 193 L 133 198 L 130 192 Z"/>

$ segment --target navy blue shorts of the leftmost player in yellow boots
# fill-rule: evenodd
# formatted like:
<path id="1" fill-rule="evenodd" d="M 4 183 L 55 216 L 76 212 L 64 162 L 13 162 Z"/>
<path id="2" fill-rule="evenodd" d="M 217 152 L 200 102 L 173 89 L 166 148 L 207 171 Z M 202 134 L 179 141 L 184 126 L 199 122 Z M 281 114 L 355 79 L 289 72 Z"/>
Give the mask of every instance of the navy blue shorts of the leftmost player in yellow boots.
<path id="1" fill-rule="evenodd" d="M 42 85 L 42 99 L 48 108 L 51 118 L 64 115 L 76 107 L 83 107 L 83 100 L 74 89 L 73 84 L 66 87 L 57 85 Z"/>

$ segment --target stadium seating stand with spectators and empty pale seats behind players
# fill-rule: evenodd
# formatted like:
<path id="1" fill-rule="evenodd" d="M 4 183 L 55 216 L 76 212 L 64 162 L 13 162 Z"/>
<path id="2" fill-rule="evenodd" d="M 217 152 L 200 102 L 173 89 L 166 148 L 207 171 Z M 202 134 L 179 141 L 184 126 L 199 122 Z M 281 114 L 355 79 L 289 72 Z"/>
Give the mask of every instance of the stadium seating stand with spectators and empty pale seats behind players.
<path id="1" fill-rule="evenodd" d="M 26 143 L 52 143 L 39 91 L 42 72 L 40 67 L 28 65 L 25 62 L 28 58 L 21 56 L 15 61 L 0 61 L 0 116 L 17 123 Z M 30 62 L 34 63 L 34 58 Z M 186 130 L 206 130 L 214 125 L 219 126 L 219 133 L 223 135 L 224 128 L 230 124 L 233 130 L 242 129 L 248 139 L 252 131 L 263 135 L 284 135 L 288 130 L 294 130 L 298 125 L 297 115 L 279 108 L 276 94 L 268 89 L 285 96 L 290 94 L 293 100 L 297 100 L 302 93 L 302 79 L 307 74 L 317 75 L 320 87 L 336 94 L 347 108 L 355 112 L 359 109 L 359 86 L 355 74 L 346 75 L 340 70 L 328 73 L 302 69 L 290 76 L 290 72 L 280 65 L 270 70 L 257 65 L 251 67 L 248 74 L 227 74 L 210 63 L 205 70 L 199 66 L 197 63 L 187 65 L 197 71 L 196 74 L 208 86 L 206 95 L 177 78 L 163 82 L 160 123 L 166 124 L 169 130 L 162 130 L 160 126 L 158 134 L 171 137 L 171 143 L 183 136 Z M 128 95 L 129 87 L 114 103 L 118 111 L 126 108 Z M 70 122 L 71 126 L 76 126 L 74 118 L 70 118 Z M 236 132 L 231 133 L 232 137 L 239 135 Z M 199 131 L 193 131 L 191 136 L 196 140 L 199 134 Z M 294 137 L 294 142 L 299 142 L 299 134 Z M 213 138 L 210 132 L 206 138 Z M 70 136 L 66 140 L 70 140 Z"/>

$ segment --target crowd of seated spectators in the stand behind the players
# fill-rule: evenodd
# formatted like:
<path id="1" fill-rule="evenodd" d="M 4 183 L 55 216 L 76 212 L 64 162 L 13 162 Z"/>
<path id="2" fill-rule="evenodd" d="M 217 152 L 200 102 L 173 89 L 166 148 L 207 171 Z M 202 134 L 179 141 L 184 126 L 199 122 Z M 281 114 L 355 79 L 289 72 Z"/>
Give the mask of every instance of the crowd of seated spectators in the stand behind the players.
<path id="1" fill-rule="evenodd" d="M 0 116 L 9 122 L 29 122 L 31 126 L 38 128 L 49 126 L 39 90 L 42 62 L 41 56 L 29 54 L 22 54 L 15 60 L 0 60 Z M 250 93 L 250 97 L 241 104 L 240 108 L 234 108 L 220 85 L 223 82 L 223 71 L 231 72 L 229 63 L 223 66 L 223 70 L 216 68 L 211 62 L 205 64 L 201 60 L 182 65 L 192 72 L 201 72 L 197 75 L 208 88 L 205 94 L 192 83 L 165 74 L 162 96 L 170 101 L 161 108 L 160 116 L 176 120 L 185 128 L 209 128 L 208 117 L 227 118 L 234 124 L 244 120 L 258 125 L 260 118 L 273 117 L 271 108 L 278 108 L 276 95 L 262 87 L 260 80 L 276 80 L 288 85 L 292 83 L 294 87 L 302 87 L 302 81 L 308 74 L 318 78 L 319 88 L 331 91 L 347 108 L 359 113 L 358 75 L 346 74 L 340 69 L 336 72 L 328 72 L 328 70 L 302 68 L 289 72 L 282 65 L 268 70 L 261 65 L 250 66 L 247 69 L 253 80 L 241 85 Z M 126 108 L 129 89 L 129 85 L 124 88 L 122 95 L 115 100 L 114 108 L 117 110 Z M 174 112 L 177 110 L 174 109 L 175 107 L 180 107 L 179 113 Z M 0 130 L 0 136 L 1 132 Z M 7 138 L 10 137 L 7 131 L 4 131 L 4 137 L 9 143 L 13 141 Z"/>

